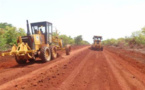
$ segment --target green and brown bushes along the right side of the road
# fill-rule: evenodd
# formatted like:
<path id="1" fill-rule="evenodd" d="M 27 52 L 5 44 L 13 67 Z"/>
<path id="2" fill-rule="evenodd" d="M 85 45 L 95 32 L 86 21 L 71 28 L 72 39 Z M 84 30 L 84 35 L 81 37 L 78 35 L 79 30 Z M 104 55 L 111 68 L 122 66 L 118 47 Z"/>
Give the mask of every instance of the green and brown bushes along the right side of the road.
<path id="1" fill-rule="evenodd" d="M 145 27 L 141 30 L 133 32 L 131 36 L 107 39 L 103 41 L 104 45 L 116 47 L 129 47 L 129 48 L 143 48 L 145 47 Z"/>

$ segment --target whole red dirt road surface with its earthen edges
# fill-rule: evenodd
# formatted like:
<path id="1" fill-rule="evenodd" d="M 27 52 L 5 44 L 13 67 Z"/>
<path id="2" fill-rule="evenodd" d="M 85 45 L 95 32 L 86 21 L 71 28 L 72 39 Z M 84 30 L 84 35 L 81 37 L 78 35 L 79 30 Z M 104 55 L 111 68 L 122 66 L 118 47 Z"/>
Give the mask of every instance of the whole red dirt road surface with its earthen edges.
<path id="1" fill-rule="evenodd" d="M 145 90 L 144 54 L 89 48 L 79 46 L 69 56 L 61 52 L 50 62 L 21 66 L 13 57 L 0 57 L 0 90 Z"/>

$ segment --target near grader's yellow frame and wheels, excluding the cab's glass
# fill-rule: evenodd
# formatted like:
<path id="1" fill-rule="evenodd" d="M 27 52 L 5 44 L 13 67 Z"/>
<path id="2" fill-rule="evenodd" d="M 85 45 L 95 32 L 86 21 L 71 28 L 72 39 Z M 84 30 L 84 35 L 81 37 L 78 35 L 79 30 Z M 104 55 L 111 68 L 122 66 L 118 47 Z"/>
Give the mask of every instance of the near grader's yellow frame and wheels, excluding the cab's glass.
<path id="1" fill-rule="evenodd" d="M 51 24 L 49 22 L 38 22 L 38 23 L 32 23 L 31 25 L 48 25 Z M 52 24 L 51 24 L 52 25 Z M 32 26 L 31 26 L 32 27 Z M 45 26 L 46 28 L 47 26 Z M 43 61 L 49 61 L 50 57 L 52 59 L 57 57 L 56 50 L 63 50 L 66 49 L 66 54 L 69 55 L 71 47 L 69 45 L 66 46 L 66 48 L 63 47 L 62 39 L 58 37 L 51 37 L 50 42 L 53 44 L 49 44 L 47 42 L 48 40 L 48 33 L 47 29 L 45 29 L 46 33 L 42 33 L 42 30 L 37 30 L 37 32 L 30 34 L 28 21 L 27 21 L 27 36 L 24 36 L 23 38 L 31 37 L 33 39 L 30 43 L 33 42 L 34 49 L 31 48 L 28 45 L 28 42 L 24 42 L 22 40 L 22 37 L 18 37 L 18 45 L 13 45 L 10 52 L 2 53 L 2 56 L 6 55 L 14 55 L 16 58 L 16 61 L 19 64 L 23 64 L 26 62 L 26 60 L 34 61 L 35 57 L 40 57 Z M 48 30 L 49 31 L 49 30 Z M 33 32 L 33 31 L 32 31 Z M 21 60 L 22 59 L 22 60 Z M 22 61 L 22 62 L 21 62 Z"/>

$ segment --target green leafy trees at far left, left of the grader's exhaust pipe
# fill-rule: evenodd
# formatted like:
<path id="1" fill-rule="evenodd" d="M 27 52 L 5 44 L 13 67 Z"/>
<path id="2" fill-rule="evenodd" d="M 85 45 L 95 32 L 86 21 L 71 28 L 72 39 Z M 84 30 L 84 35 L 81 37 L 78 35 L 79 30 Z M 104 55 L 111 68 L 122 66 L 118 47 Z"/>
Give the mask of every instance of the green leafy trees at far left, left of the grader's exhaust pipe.
<path id="1" fill-rule="evenodd" d="M 17 37 L 24 35 L 26 35 L 24 29 L 17 29 L 8 23 L 0 23 L 0 49 L 5 50 L 7 47 L 16 44 Z"/>

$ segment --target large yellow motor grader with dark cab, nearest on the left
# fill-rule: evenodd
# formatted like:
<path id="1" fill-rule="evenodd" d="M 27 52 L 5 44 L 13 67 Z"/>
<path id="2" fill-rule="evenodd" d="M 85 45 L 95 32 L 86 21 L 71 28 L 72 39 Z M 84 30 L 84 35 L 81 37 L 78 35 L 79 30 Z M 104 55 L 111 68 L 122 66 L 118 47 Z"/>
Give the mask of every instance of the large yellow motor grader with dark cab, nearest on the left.
<path id="1" fill-rule="evenodd" d="M 20 36 L 10 52 L 2 53 L 2 56 L 14 55 L 18 64 L 33 62 L 39 57 L 43 62 L 57 58 L 58 49 L 66 49 L 66 55 L 70 54 L 71 46 L 62 46 L 62 39 L 53 36 L 52 23 L 31 23 L 31 31 L 27 20 L 27 36 Z"/>

